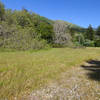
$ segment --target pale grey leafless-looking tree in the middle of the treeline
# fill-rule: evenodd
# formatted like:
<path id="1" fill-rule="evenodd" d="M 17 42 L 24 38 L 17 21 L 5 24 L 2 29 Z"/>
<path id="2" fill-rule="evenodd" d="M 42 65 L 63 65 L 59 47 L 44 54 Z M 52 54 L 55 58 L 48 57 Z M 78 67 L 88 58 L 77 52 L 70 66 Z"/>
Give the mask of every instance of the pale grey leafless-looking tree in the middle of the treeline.
<path id="1" fill-rule="evenodd" d="M 67 33 L 68 25 L 63 21 L 55 21 L 54 23 L 54 38 L 55 44 L 65 45 L 70 41 L 70 35 Z"/>

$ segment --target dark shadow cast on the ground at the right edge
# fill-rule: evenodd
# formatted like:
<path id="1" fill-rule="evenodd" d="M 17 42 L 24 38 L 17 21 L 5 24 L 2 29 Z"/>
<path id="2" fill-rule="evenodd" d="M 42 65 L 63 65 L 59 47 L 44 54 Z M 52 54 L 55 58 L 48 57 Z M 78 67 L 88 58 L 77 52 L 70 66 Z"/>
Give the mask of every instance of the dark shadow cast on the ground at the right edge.
<path id="1" fill-rule="evenodd" d="M 82 65 L 81 67 L 88 70 L 88 77 L 95 81 L 100 81 L 100 61 L 90 60 L 87 61 L 89 65 Z"/>

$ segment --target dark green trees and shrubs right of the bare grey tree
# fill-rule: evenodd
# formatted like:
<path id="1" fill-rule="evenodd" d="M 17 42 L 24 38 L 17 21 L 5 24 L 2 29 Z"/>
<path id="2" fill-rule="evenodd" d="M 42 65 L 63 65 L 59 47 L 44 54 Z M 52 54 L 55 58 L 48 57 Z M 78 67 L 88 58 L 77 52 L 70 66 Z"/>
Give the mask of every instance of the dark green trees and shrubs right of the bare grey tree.
<path id="1" fill-rule="evenodd" d="M 80 32 L 78 37 L 74 36 L 74 40 L 74 42 L 81 46 L 100 47 L 100 26 L 97 29 L 94 29 L 91 25 L 89 25 L 84 33 Z"/>

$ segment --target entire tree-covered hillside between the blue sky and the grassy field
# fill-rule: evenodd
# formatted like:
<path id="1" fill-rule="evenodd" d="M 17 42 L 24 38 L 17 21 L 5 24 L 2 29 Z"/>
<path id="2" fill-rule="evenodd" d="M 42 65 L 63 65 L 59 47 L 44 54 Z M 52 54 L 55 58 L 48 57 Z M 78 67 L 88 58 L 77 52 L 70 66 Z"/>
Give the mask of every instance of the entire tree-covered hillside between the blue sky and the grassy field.
<path id="1" fill-rule="evenodd" d="M 65 46 L 100 46 L 100 27 L 87 29 L 50 20 L 23 8 L 5 9 L 0 2 L 0 47 L 18 50 Z"/>

